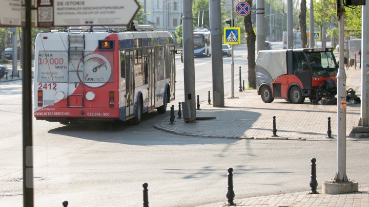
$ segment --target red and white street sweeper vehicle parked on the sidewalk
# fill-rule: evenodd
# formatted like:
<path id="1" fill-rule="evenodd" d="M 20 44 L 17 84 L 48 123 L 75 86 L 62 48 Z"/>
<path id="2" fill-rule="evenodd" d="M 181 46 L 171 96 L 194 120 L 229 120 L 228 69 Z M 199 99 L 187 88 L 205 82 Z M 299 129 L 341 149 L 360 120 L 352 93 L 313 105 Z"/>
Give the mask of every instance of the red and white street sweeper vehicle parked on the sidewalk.
<path id="1" fill-rule="evenodd" d="M 265 103 L 285 99 L 300 104 L 335 103 L 338 65 L 333 48 L 259 51 L 256 86 Z"/>

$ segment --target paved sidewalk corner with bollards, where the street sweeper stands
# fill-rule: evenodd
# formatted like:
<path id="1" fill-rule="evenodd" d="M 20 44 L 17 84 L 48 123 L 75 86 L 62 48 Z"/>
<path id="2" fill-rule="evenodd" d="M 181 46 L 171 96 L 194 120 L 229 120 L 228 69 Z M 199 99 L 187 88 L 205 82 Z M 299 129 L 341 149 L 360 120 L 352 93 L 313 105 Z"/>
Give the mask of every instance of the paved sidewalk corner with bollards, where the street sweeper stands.
<path id="1" fill-rule="evenodd" d="M 360 70 L 346 71 L 347 87 L 361 94 Z M 170 117 L 155 123 L 155 128 L 175 134 L 200 137 L 225 137 L 238 139 L 279 139 L 335 141 L 337 137 L 336 105 L 312 105 L 309 99 L 304 104 L 293 104 L 284 99 L 274 99 L 264 103 L 256 90 L 235 91 L 234 99 L 226 98 L 225 107 L 213 107 L 208 102 L 200 102 L 196 117 L 215 117 L 215 120 L 197 120 L 185 123 L 178 119 L 178 103 L 175 107 L 175 122 Z M 273 116 L 276 117 L 277 137 L 273 137 Z M 327 137 L 328 118 L 331 118 L 333 139 Z M 347 140 L 360 140 L 348 137 L 353 126 L 360 118 L 360 104 L 347 104 L 346 136 Z M 365 139 L 364 139 L 365 140 Z"/>

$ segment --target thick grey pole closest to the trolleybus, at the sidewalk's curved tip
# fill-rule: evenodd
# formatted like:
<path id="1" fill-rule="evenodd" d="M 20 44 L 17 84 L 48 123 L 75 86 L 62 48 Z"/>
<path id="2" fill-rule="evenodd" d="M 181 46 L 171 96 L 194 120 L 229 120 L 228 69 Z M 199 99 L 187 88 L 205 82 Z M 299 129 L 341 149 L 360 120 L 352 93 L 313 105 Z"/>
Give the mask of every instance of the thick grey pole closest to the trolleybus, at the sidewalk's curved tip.
<path id="1" fill-rule="evenodd" d="M 195 60 L 193 48 L 192 2 L 185 0 L 183 4 L 182 34 L 183 34 L 183 77 L 185 83 L 185 101 L 190 102 L 191 118 L 187 123 L 196 122 L 195 94 Z"/>

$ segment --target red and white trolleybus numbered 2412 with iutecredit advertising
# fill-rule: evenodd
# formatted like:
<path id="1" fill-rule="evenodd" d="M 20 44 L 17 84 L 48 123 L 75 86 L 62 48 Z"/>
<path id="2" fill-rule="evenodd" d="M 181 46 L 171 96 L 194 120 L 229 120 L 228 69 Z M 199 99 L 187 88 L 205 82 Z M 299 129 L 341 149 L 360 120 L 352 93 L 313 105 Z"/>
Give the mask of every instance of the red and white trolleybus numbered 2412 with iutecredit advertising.
<path id="1" fill-rule="evenodd" d="M 164 113 L 175 98 L 174 42 L 169 32 L 148 30 L 136 24 L 119 32 L 81 27 L 39 33 L 36 119 L 138 124 L 142 113 Z"/>

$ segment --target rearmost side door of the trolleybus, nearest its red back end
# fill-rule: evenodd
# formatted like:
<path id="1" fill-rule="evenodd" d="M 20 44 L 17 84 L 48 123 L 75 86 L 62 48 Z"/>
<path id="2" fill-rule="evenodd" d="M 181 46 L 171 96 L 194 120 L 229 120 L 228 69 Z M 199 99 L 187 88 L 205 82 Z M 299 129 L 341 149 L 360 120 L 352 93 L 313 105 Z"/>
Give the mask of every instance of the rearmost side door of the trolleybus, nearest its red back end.
<path id="1" fill-rule="evenodd" d="M 134 113 L 134 59 L 133 51 L 126 52 L 126 120 L 133 117 Z"/>

